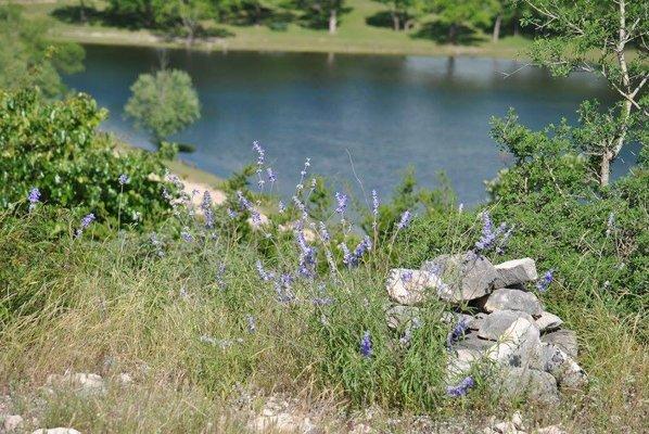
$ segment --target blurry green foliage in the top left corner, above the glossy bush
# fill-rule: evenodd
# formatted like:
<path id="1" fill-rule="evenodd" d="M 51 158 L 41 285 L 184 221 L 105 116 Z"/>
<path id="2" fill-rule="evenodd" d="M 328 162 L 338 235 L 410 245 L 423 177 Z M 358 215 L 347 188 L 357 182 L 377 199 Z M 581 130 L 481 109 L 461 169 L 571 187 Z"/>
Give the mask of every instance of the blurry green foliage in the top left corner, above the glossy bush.
<path id="1" fill-rule="evenodd" d="M 0 5 L 0 89 L 38 87 L 48 97 L 62 93 L 60 73 L 84 68 L 84 49 L 51 43 L 43 21 L 26 20 L 16 5 Z"/>

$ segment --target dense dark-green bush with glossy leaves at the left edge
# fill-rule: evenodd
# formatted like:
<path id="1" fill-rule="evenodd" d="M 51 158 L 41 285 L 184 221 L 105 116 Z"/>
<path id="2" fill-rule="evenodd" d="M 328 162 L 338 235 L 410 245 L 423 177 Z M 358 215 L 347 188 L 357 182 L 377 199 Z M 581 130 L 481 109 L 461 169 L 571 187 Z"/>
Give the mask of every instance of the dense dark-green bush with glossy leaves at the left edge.
<path id="1" fill-rule="evenodd" d="M 141 224 L 164 216 L 168 204 L 152 178 L 164 176 L 162 159 L 117 150 L 97 132 L 105 116 L 85 94 L 48 102 L 34 90 L 1 92 L 0 207 L 24 204 L 38 188 L 41 202 L 80 207 L 100 219 Z M 120 175 L 130 183 L 120 186 Z"/>

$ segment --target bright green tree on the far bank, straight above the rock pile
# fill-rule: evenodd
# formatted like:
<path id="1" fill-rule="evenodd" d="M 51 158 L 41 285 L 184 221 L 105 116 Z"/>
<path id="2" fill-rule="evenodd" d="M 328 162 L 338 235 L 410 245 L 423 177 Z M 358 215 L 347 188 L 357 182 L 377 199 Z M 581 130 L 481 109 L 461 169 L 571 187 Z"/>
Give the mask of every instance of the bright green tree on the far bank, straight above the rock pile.
<path id="1" fill-rule="evenodd" d="M 431 12 L 448 26 L 448 41 L 457 43 L 461 26 L 488 26 L 495 15 L 494 0 L 431 0 Z"/>

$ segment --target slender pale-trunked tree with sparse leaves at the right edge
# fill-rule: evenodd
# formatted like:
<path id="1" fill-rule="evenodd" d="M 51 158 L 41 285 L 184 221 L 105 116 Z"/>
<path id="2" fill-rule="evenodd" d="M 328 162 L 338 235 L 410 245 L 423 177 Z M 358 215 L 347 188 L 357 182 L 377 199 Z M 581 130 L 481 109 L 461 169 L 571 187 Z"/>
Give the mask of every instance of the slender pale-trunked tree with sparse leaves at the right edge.
<path id="1" fill-rule="evenodd" d="M 610 165 L 634 133 L 646 135 L 649 98 L 642 92 L 649 79 L 649 3 L 627 0 L 522 0 L 527 13 L 523 24 L 533 25 L 538 38 L 530 55 L 534 63 L 555 75 L 583 71 L 605 77 L 620 98 L 613 114 L 597 118 L 608 122 L 607 135 L 590 135 L 582 143 L 585 152 L 599 159 L 599 183 L 609 184 Z M 629 51 L 634 50 L 633 58 Z M 587 110 L 584 120 L 594 122 Z M 640 131 L 633 130 L 638 126 Z M 641 130 L 645 130 L 642 132 Z M 611 140 L 611 133 L 613 138 Z"/>

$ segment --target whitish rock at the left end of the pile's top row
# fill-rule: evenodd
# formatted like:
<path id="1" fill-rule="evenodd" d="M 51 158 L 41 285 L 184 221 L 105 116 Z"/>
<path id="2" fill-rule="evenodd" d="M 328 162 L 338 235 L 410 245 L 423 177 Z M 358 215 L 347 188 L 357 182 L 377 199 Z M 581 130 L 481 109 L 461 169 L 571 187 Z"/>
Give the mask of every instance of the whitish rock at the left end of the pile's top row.
<path id="1" fill-rule="evenodd" d="M 441 283 L 440 278 L 427 271 L 394 268 L 385 286 L 393 302 L 415 306 L 425 301 L 428 290 L 436 290 Z"/>

